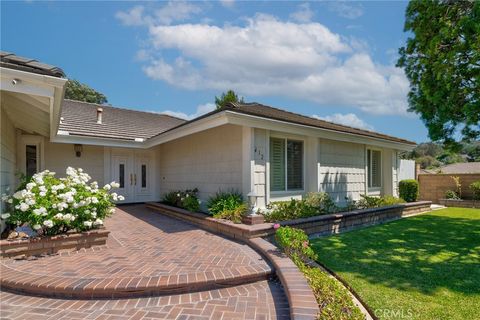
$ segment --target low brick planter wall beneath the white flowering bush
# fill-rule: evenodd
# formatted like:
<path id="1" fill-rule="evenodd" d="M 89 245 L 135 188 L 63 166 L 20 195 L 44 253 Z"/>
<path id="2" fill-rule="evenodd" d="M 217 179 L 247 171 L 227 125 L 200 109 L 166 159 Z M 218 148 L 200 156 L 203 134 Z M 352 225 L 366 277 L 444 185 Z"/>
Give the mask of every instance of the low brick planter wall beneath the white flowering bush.
<path id="1" fill-rule="evenodd" d="M 75 251 L 92 246 L 105 245 L 110 231 L 105 229 L 41 238 L 1 240 L 1 257 L 13 258 Z"/>

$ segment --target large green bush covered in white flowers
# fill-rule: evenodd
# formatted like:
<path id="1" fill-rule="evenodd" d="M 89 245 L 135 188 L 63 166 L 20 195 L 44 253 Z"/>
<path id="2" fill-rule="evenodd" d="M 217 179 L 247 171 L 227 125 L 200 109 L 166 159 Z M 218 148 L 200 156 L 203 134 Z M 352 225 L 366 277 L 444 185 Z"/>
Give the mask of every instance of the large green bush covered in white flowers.
<path id="1" fill-rule="evenodd" d="M 3 196 L 11 212 L 1 215 L 13 226 L 28 225 L 40 235 L 86 231 L 103 225 L 114 212 L 113 201 L 124 200 L 112 192 L 119 184 L 99 188 L 82 169 L 67 168 L 66 178 L 45 170 L 24 181 L 12 196 Z"/>

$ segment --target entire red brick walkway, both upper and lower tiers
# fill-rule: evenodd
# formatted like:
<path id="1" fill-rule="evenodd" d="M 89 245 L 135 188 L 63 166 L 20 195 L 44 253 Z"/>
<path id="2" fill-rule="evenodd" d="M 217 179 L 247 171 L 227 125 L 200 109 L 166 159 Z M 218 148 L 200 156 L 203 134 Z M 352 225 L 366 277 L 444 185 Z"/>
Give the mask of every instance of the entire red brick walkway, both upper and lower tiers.
<path id="1" fill-rule="evenodd" d="M 1 292 L 1 318 L 288 318 L 283 289 L 265 281 L 271 267 L 248 245 L 140 205 L 117 209 L 106 227 L 101 248 L 2 259 L 1 285 L 18 294 Z"/>

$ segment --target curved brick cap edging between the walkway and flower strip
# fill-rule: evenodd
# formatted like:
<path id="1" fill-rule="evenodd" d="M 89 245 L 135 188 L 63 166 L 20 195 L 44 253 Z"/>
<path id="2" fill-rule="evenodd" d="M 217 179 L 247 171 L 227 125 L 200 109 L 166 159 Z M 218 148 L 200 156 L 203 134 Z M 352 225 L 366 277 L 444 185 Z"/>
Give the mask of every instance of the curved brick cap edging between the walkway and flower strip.
<path id="1" fill-rule="evenodd" d="M 292 320 L 316 319 L 320 313 L 317 300 L 302 272 L 279 248 L 262 238 L 245 242 L 263 254 L 275 267 L 285 290 Z"/>

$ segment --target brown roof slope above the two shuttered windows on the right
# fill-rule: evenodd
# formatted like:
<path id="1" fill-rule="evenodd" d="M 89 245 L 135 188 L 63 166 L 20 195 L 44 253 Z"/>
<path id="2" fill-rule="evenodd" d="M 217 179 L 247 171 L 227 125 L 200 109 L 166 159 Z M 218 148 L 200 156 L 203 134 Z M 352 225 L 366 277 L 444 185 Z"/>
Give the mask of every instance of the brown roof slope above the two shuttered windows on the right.
<path id="1" fill-rule="evenodd" d="M 238 113 L 248 114 L 252 116 L 258 116 L 262 118 L 280 120 L 295 124 L 301 124 L 306 126 L 311 126 L 315 128 L 327 129 L 332 131 L 351 133 L 361 136 L 366 136 L 370 138 L 377 138 L 383 140 L 389 140 L 394 142 L 400 142 L 405 144 L 415 145 L 413 141 L 392 137 L 383 133 L 378 133 L 374 131 L 368 131 L 363 129 L 352 128 L 324 120 L 315 119 L 312 117 L 307 117 L 298 113 L 293 113 L 285 111 L 282 109 L 273 108 L 266 106 L 260 103 L 230 103 L 225 107 L 225 110 L 231 110 Z"/>

